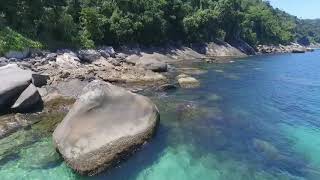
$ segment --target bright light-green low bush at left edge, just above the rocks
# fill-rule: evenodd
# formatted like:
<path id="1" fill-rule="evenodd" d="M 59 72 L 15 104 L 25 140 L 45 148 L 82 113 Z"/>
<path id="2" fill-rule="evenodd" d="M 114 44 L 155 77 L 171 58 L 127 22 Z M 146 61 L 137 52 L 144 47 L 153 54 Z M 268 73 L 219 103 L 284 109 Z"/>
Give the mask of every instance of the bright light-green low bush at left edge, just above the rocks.
<path id="1" fill-rule="evenodd" d="M 40 49 L 42 45 L 39 42 L 22 36 L 10 28 L 6 27 L 0 30 L 0 55 L 3 55 L 9 50 L 24 50 L 25 48 Z"/>

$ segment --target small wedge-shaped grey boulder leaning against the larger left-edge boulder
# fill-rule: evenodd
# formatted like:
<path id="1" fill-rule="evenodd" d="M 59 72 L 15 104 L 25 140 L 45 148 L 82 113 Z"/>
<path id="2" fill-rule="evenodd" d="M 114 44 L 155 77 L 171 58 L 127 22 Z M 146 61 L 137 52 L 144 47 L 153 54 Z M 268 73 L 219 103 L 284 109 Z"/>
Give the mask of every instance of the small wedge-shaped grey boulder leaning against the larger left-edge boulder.
<path id="1" fill-rule="evenodd" d="M 30 84 L 27 89 L 22 92 L 11 108 L 21 112 L 36 109 L 41 104 L 42 99 L 38 89 L 33 84 Z"/>

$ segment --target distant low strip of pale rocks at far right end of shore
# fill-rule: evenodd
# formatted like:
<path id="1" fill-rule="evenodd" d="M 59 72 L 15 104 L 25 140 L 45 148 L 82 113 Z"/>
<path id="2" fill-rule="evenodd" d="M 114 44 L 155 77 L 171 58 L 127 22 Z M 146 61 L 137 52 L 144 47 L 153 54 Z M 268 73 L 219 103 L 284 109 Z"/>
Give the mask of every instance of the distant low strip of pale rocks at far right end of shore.
<path id="1" fill-rule="evenodd" d="M 301 46 L 299 44 L 292 43 L 291 45 L 258 45 L 257 52 L 261 54 L 276 54 L 276 53 L 305 53 L 313 51 L 313 48 Z"/>

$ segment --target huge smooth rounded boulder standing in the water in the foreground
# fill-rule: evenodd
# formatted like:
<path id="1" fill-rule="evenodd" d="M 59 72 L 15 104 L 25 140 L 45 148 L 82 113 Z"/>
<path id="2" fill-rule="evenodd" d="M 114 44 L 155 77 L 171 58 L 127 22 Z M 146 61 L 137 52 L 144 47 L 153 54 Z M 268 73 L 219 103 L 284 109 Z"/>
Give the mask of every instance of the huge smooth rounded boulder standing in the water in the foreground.
<path id="1" fill-rule="evenodd" d="M 53 140 L 72 169 L 95 175 L 150 139 L 159 113 L 148 98 L 102 81 L 91 82 L 83 92 Z"/>

